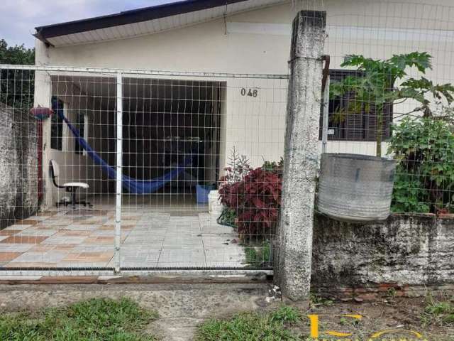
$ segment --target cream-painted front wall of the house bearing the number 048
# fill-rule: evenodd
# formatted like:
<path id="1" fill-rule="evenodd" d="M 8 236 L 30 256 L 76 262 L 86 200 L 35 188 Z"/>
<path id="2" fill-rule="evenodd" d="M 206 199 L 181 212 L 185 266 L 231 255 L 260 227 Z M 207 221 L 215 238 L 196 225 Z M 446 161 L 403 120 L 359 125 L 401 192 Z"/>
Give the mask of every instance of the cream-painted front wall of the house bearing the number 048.
<path id="1" fill-rule="evenodd" d="M 315 1 L 309 1 L 313 4 Z M 428 77 L 453 80 L 454 23 L 450 0 L 433 1 L 323 1 L 327 11 L 326 53 L 331 68 L 340 68 L 352 53 L 389 58 L 393 53 L 425 50 L 433 55 Z M 316 6 L 310 9 L 319 9 Z M 40 65 L 92 66 L 194 72 L 233 72 L 287 75 L 290 26 L 299 1 L 138 38 L 45 48 L 37 40 Z M 265 34 L 263 34 L 265 33 Z M 440 33 L 436 35 L 436 33 Z M 255 166 L 278 160 L 284 148 L 286 80 L 219 79 L 226 82 L 221 112 L 221 160 L 238 146 Z M 240 98 L 241 87 L 257 87 L 257 98 Z M 413 104 L 394 106 L 408 111 Z M 384 146 L 386 148 L 386 146 Z M 375 153 L 373 142 L 329 141 L 328 151 Z M 222 163 L 222 161 L 221 161 Z M 221 164 L 221 167 L 223 165 Z"/>

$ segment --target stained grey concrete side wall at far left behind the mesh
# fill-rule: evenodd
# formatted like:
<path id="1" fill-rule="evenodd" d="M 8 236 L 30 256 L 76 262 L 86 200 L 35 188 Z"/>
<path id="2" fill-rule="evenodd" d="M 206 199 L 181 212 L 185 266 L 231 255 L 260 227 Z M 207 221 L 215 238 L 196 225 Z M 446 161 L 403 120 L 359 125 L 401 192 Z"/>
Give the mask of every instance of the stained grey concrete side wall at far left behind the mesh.
<path id="1" fill-rule="evenodd" d="M 38 139 L 28 113 L 0 104 L 0 229 L 38 210 Z"/>

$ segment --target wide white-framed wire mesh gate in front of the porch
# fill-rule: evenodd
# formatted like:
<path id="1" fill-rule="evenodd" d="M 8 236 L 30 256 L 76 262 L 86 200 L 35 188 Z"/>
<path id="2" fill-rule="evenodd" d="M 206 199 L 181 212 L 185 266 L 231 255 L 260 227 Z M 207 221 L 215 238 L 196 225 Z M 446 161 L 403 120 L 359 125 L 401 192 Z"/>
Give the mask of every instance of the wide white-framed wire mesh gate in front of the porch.
<path id="1" fill-rule="evenodd" d="M 272 269 L 287 75 L 0 69 L 2 271 Z"/>

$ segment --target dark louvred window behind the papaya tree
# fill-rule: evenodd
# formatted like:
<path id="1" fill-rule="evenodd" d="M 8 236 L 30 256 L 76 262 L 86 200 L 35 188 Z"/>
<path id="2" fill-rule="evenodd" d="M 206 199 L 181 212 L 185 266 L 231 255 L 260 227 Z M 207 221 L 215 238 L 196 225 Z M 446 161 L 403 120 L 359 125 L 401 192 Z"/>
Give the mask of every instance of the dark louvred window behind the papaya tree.
<path id="1" fill-rule="evenodd" d="M 357 71 L 350 70 L 330 70 L 330 82 L 342 80 L 348 75 L 357 75 Z M 340 107 L 346 107 L 348 104 L 348 96 L 343 98 L 338 97 L 329 100 L 328 107 L 328 141 L 375 141 L 377 136 L 377 114 L 375 108 L 370 108 L 368 112 L 364 109 L 359 114 L 336 114 Z M 320 115 L 320 132 L 323 122 L 323 108 Z M 383 141 L 390 136 L 390 125 L 392 123 L 392 103 L 384 105 L 383 114 Z"/>

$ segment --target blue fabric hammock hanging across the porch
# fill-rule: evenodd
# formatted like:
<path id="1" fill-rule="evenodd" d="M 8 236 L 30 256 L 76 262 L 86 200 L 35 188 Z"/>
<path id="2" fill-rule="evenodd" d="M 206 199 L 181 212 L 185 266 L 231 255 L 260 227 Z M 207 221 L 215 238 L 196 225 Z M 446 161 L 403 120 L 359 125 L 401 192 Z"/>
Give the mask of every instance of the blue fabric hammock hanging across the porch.
<path id="1" fill-rule="evenodd" d="M 109 163 L 106 163 L 101 156 L 99 156 L 88 144 L 87 141 L 82 139 L 79 135 L 79 130 L 75 128 L 70 121 L 63 115 L 62 110 L 57 110 L 58 116 L 65 121 L 67 126 L 74 134 L 74 137 L 79 142 L 79 145 L 87 151 L 87 154 L 96 165 L 101 166 L 101 169 L 109 175 L 109 178 L 116 179 L 116 171 L 115 168 L 110 166 Z M 160 176 L 159 178 L 150 179 L 150 180 L 137 180 L 134 178 L 130 178 L 127 175 L 121 175 L 121 183 L 123 184 L 123 188 L 128 190 L 129 193 L 133 194 L 149 194 L 155 193 L 157 190 L 162 188 L 166 183 L 169 183 L 173 179 L 177 178 L 179 174 L 181 174 L 187 166 L 189 166 L 192 162 L 192 156 L 188 156 L 185 158 L 184 163 L 172 169 L 172 171 L 165 173 L 164 175 Z"/>

